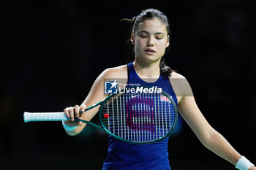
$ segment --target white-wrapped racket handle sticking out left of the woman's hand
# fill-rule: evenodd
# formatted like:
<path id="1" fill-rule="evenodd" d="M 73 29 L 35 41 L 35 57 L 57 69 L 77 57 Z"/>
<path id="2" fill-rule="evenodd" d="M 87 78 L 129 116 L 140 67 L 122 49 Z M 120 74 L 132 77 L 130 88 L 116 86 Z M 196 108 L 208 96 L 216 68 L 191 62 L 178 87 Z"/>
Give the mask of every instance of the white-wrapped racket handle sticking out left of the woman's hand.
<path id="1" fill-rule="evenodd" d="M 64 112 L 24 112 L 24 122 L 69 120 Z"/>

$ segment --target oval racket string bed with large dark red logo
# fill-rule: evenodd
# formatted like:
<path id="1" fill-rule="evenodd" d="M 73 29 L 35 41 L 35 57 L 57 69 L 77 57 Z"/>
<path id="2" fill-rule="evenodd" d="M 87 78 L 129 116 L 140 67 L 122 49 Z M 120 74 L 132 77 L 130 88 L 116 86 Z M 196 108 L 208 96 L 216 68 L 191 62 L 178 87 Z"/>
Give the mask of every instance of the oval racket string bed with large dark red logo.
<path id="1" fill-rule="evenodd" d="M 102 107 L 102 123 L 113 135 L 132 142 L 162 139 L 173 130 L 176 111 L 159 93 L 122 93 Z"/>

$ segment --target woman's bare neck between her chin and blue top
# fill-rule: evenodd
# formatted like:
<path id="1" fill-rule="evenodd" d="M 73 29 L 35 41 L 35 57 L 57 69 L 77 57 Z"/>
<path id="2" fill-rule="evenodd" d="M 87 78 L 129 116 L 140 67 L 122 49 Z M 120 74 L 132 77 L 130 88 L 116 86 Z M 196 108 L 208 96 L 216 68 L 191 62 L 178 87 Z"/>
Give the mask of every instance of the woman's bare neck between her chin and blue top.
<path id="1" fill-rule="evenodd" d="M 133 62 L 133 66 L 135 71 L 141 78 L 159 78 L 160 76 L 160 68 L 159 61 L 155 61 L 152 63 L 140 62 L 137 58 Z"/>

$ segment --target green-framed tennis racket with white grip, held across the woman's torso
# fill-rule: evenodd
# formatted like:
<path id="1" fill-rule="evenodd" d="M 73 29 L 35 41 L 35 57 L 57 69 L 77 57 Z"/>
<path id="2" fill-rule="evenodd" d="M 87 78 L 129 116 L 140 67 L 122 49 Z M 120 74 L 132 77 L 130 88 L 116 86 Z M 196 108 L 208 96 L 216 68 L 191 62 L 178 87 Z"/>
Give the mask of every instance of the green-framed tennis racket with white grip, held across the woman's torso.
<path id="1" fill-rule="evenodd" d="M 176 126 L 177 108 L 173 98 L 155 87 L 130 87 L 113 93 L 97 106 L 100 124 L 75 119 L 132 144 L 157 142 L 169 136 Z M 24 112 L 24 122 L 69 120 L 64 112 Z"/>

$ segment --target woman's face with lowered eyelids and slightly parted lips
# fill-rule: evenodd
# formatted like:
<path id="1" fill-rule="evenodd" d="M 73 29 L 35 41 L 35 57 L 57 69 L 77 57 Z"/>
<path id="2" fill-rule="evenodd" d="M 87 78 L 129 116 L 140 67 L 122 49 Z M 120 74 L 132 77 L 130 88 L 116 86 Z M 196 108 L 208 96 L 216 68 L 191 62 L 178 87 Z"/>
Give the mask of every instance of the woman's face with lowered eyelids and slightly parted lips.
<path id="1" fill-rule="evenodd" d="M 158 18 L 140 23 L 131 40 L 135 45 L 135 57 L 143 61 L 159 61 L 169 46 L 166 25 Z"/>

